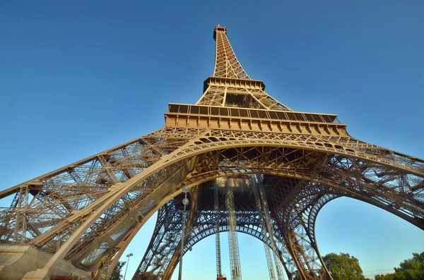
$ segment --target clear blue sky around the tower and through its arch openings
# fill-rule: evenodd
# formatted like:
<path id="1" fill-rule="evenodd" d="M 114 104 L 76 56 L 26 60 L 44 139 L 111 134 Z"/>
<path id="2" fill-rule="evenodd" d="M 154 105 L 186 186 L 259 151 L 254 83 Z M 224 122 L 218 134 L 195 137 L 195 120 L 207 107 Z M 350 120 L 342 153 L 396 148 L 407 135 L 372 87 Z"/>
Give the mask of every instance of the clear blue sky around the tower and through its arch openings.
<path id="1" fill-rule="evenodd" d="M 355 138 L 424 158 L 423 15 L 420 0 L 1 1 L 0 188 L 162 127 L 167 102 L 194 104 L 217 24 L 283 104 L 338 114 Z M 126 251 L 126 279 L 153 225 Z M 263 246 L 239 238 L 243 279 L 266 279 Z M 367 275 L 424 250 L 423 231 L 349 199 L 320 212 L 317 241 L 323 255 L 358 257 Z M 206 238 L 184 257 L 185 280 L 214 278 L 213 246 Z"/>

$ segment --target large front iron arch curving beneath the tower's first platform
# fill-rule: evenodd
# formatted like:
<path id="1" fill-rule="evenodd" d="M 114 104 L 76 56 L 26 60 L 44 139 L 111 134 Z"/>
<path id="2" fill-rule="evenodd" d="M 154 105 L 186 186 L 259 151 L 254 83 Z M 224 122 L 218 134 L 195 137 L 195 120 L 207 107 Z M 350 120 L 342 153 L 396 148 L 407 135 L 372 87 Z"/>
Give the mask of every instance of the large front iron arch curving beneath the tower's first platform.
<path id="1" fill-rule="evenodd" d="M 205 134 L 213 135 L 211 131 L 205 131 L 204 135 Z M 197 136 L 196 139 L 206 139 L 204 135 Z M 252 135 L 249 134 L 248 137 L 252 137 Z M 336 154 L 335 152 L 338 152 L 341 149 L 338 148 L 336 150 L 334 145 L 333 147 L 326 147 L 324 145 L 319 148 L 312 148 L 310 147 L 311 144 L 294 142 L 295 140 L 299 141 L 299 138 L 300 136 L 298 136 L 296 139 L 292 139 L 293 142 L 291 142 L 290 145 L 287 145 L 287 147 L 284 147 L 283 143 L 288 143 L 288 140 L 276 141 L 271 144 L 271 140 L 264 141 L 246 139 L 243 141 L 239 140 L 239 142 L 237 142 L 232 140 L 232 138 L 228 138 L 228 141 L 233 141 L 232 145 L 229 145 L 230 143 L 226 139 L 222 142 L 209 142 L 207 144 L 199 145 L 187 143 L 186 145 L 183 145 L 182 147 L 175 150 L 175 152 L 169 154 L 169 156 L 161 157 L 158 162 L 150 166 L 148 169 L 146 169 L 146 171 L 141 171 L 140 174 L 124 181 L 123 183 L 114 184 L 117 185 L 117 188 L 115 188 L 116 191 L 111 192 L 109 190 L 108 193 L 102 195 L 98 200 L 95 200 L 93 203 L 88 205 L 88 207 L 85 207 L 81 212 L 78 212 L 71 218 L 66 219 L 65 223 L 59 223 L 57 226 L 52 228 L 52 230 L 37 236 L 37 238 L 34 238 L 32 241 L 30 241 L 30 243 L 41 245 L 44 242 L 44 244 L 49 246 L 46 247 L 46 245 L 44 245 L 45 248 L 53 248 L 54 245 L 57 245 L 57 241 L 54 242 L 56 234 L 52 235 L 51 233 L 49 234 L 49 232 L 71 229 L 70 236 L 73 238 L 73 243 L 64 243 L 66 246 L 62 245 L 61 248 L 57 250 L 55 262 L 60 260 L 62 257 L 65 257 L 66 254 L 68 254 L 68 260 L 76 260 L 77 257 L 79 257 L 81 260 L 81 256 L 88 256 L 92 260 L 100 260 L 101 255 L 93 255 L 93 252 L 95 250 L 100 250 L 101 246 L 104 246 L 105 243 L 97 242 L 97 244 L 99 244 L 98 249 L 95 249 L 92 246 L 91 248 L 93 249 L 90 249 L 92 250 L 90 254 L 87 254 L 89 250 L 86 250 L 86 252 L 80 251 L 78 246 L 79 248 L 90 248 L 90 245 L 88 244 L 96 243 L 96 237 L 93 236 L 93 233 L 98 235 L 99 231 L 93 230 L 93 223 L 96 225 L 96 227 L 98 227 L 97 224 L 99 219 L 101 219 L 100 222 L 105 224 L 105 226 L 110 224 L 110 222 L 104 222 L 106 220 L 101 218 L 102 214 L 106 214 L 111 210 L 112 213 L 117 213 L 116 210 L 113 211 L 113 209 L 114 207 L 118 207 L 116 203 L 119 203 L 119 205 L 125 205 L 125 203 L 127 203 L 125 195 L 130 193 L 136 194 L 136 197 L 139 197 L 136 201 L 139 202 L 132 202 L 134 205 L 134 208 L 132 209 L 140 209 L 140 205 L 138 203 L 142 202 L 143 198 L 144 201 L 146 201 L 149 199 L 149 197 L 151 197 L 151 195 L 158 195 L 158 187 L 163 186 L 160 183 L 166 185 L 166 182 L 169 181 L 172 176 L 175 176 L 175 174 L 182 172 L 184 175 L 179 174 L 179 180 L 181 181 L 175 181 L 175 178 L 173 178 L 175 181 L 174 187 L 182 183 L 184 180 L 187 181 L 187 183 L 199 181 L 199 178 L 205 174 L 205 172 L 200 173 L 198 170 L 199 168 L 203 168 L 206 170 L 206 172 L 211 174 L 215 172 L 214 176 L 218 176 L 219 172 L 225 173 L 223 170 L 228 170 L 228 166 L 225 166 L 224 169 L 220 168 L 220 165 L 225 165 L 225 163 L 233 164 L 234 170 L 249 172 L 249 170 L 256 167 L 256 169 L 261 171 L 261 173 L 266 173 L 269 171 L 270 173 L 285 174 L 285 176 L 303 178 L 305 180 L 308 178 L 316 178 L 318 174 L 320 174 L 320 178 L 326 181 L 326 184 L 329 184 L 331 181 L 328 177 L 335 178 L 336 180 L 333 184 L 334 187 L 337 186 L 337 182 L 349 183 L 346 186 L 346 190 L 349 190 L 348 186 L 356 185 L 358 190 L 365 192 L 367 191 L 367 185 L 374 184 L 373 190 L 384 190 L 386 195 L 385 197 L 382 197 L 382 200 L 386 202 L 386 205 L 390 205 L 390 203 L 396 204 L 396 207 L 399 207 L 400 205 L 401 208 L 399 207 L 399 209 L 404 212 L 404 219 L 406 217 L 408 221 L 418 226 L 423 224 L 421 218 L 422 213 L 420 213 L 422 209 L 420 204 L 421 202 L 420 200 L 413 197 L 413 192 L 422 188 L 420 186 L 420 184 L 422 184 L 422 180 L 420 181 L 420 178 L 422 178 L 422 164 L 417 162 L 416 159 L 404 159 L 406 162 L 411 161 L 411 164 L 408 164 L 408 166 L 405 166 L 404 169 L 402 169 L 399 167 L 398 163 L 393 163 L 399 162 L 396 159 L 398 156 L 394 156 L 393 154 L 386 154 L 384 157 L 381 157 L 382 159 L 379 159 L 377 155 L 372 157 L 365 157 L 361 152 L 359 152 L 357 155 L 355 155 L 355 157 L 353 157 L 351 156 L 352 152 L 348 151 L 347 149 L 345 149 L 345 152 L 341 154 Z M 275 139 L 272 139 L 272 141 L 273 140 Z M 305 138 L 305 141 L 310 141 L 310 138 Z M 192 143 L 194 142 L 196 141 L 192 141 Z M 249 143 L 249 145 L 247 143 Z M 259 144 L 261 144 L 261 146 L 257 146 Z M 206 149 L 204 145 L 209 145 L 209 148 Z M 307 148 L 305 149 L 305 147 Z M 349 147 L 348 149 L 351 148 L 352 147 Z M 322 150 L 325 150 L 326 152 L 322 152 Z M 290 161 L 290 159 L 285 156 L 285 154 L 290 153 L 299 154 L 301 157 L 293 157 L 293 160 Z M 220 155 L 221 161 L 213 162 L 212 159 L 214 157 L 216 158 L 217 154 Z M 249 156 L 247 156 L 247 154 L 249 154 Z M 260 161 L 261 157 L 259 157 L 258 154 L 280 154 L 280 156 L 275 157 L 275 159 L 271 162 L 264 163 Z M 245 160 L 243 160 L 242 157 L 245 157 Z M 298 159 L 299 157 L 300 159 Z M 393 162 L 388 160 L 390 157 L 392 158 Z M 201 161 L 205 161 L 205 164 L 201 164 Z M 322 162 L 322 164 L 317 165 L 317 162 Z M 389 171 L 387 171 L 387 169 L 389 169 Z M 323 176 L 323 174 L 325 176 Z M 349 174 L 349 176 L 346 176 L 346 174 Z M 160 179 L 158 180 L 158 178 Z M 384 181 L 382 181 L 382 178 Z M 387 183 L 396 181 L 402 181 L 403 183 L 401 185 L 390 186 Z M 135 187 L 133 187 L 133 185 Z M 166 193 L 172 193 L 175 191 L 174 187 L 168 190 Z M 405 197 L 408 193 L 404 192 L 405 195 L 402 195 L 402 188 L 408 188 L 408 190 L 411 190 L 409 194 L 412 194 L 412 200 L 405 200 Z M 113 190 L 113 188 L 111 188 L 111 190 Z M 149 193 L 146 194 L 146 190 L 148 190 Z M 166 196 L 169 197 L 169 195 Z M 163 196 L 160 199 L 156 199 L 155 205 L 153 205 L 153 207 L 151 206 L 150 208 L 153 209 L 154 206 L 157 206 L 160 203 L 165 203 L 160 201 L 163 201 L 164 197 L 166 196 Z M 396 197 L 398 197 L 398 199 L 396 199 Z M 112 208 L 109 205 L 111 205 Z M 123 219 L 129 219 L 126 217 L 130 217 L 131 214 L 133 217 L 132 219 L 134 219 L 134 217 L 139 217 L 140 211 L 133 210 L 133 212 L 131 212 L 131 209 L 126 207 L 119 211 L 117 214 L 119 214 L 121 218 L 116 219 L 116 217 L 111 217 L 115 224 L 110 224 L 110 229 L 113 229 L 116 223 L 119 223 L 119 221 L 122 221 Z M 143 214 L 147 214 L 146 210 L 144 210 Z M 81 220 L 81 218 L 83 219 Z M 84 221 L 84 219 L 86 220 Z M 78 221 L 77 223 L 75 222 L 76 220 Z M 134 219 L 134 223 L 136 223 L 135 220 L 136 219 Z M 84 222 L 81 224 L 81 221 Z M 133 226 L 134 225 L 131 225 L 130 228 Z M 72 227 L 74 227 L 75 230 L 72 230 Z M 89 231 L 86 232 L 87 230 Z M 87 235 L 87 233 L 89 234 Z M 83 239 L 79 239 L 79 236 L 81 236 Z M 124 233 L 122 236 L 124 236 Z M 45 243 L 45 241 L 40 241 L 40 238 L 44 238 L 45 241 L 52 240 L 53 242 Z M 71 247 L 73 247 L 78 240 L 79 242 L 77 247 L 72 249 Z M 112 247 L 113 245 L 107 245 L 107 248 L 105 250 L 100 250 L 100 252 L 110 252 L 110 248 Z M 73 255 L 70 256 L 69 252 L 71 252 Z M 49 265 L 52 266 L 55 262 L 52 262 Z"/>

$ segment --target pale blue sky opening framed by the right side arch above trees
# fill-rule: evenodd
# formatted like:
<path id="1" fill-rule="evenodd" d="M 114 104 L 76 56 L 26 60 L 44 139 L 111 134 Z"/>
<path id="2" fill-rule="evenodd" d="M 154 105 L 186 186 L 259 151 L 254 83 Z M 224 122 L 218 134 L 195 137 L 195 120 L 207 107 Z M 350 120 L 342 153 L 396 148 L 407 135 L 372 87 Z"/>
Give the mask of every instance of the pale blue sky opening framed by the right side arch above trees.
<path id="1" fill-rule="evenodd" d="M 394 272 L 413 252 L 423 252 L 424 232 L 384 209 L 350 197 L 322 207 L 316 222 L 317 245 L 324 256 L 347 252 L 358 258 L 364 276 Z"/>

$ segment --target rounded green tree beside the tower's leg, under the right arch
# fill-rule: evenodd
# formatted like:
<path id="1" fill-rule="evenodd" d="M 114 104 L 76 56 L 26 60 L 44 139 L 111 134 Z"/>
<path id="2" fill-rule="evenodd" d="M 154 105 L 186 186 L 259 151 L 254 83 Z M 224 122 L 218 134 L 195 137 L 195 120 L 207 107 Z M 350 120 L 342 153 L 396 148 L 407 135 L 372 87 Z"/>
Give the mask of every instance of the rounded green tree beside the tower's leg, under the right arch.
<path id="1" fill-rule="evenodd" d="M 363 270 L 360 268 L 359 260 L 347 253 L 340 255 L 331 252 L 325 255 L 322 260 L 329 269 L 334 280 L 365 280 Z"/>

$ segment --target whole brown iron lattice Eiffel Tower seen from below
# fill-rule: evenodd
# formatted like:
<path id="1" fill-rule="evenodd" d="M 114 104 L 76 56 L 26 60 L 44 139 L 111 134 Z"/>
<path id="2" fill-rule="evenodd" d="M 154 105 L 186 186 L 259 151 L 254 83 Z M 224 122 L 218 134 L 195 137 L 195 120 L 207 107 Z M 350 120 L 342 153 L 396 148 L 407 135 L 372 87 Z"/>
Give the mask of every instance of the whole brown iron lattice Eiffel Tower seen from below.
<path id="1" fill-rule="evenodd" d="M 69 267 L 80 276 L 110 273 L 155 212 L 134 279 L 170 279 L 182 254 L 224 231 L 263 241 L 288 279 L 332 279 L 314 224 L 337 197 L 424 229 L 422 159 L 351 137 L 335 114 L 293 111 L 249 78 L 225 27 L 216 26 L 213 39 L 215 71 L 203 95 L 169 104 L 163 128 L 0 192 L 13 196 L 0 212 L 0 253 L 47 256 L 20 266 L 15 279 L 69 275 Z M 241 279 L 234 265 L 232 279 Z"/>

